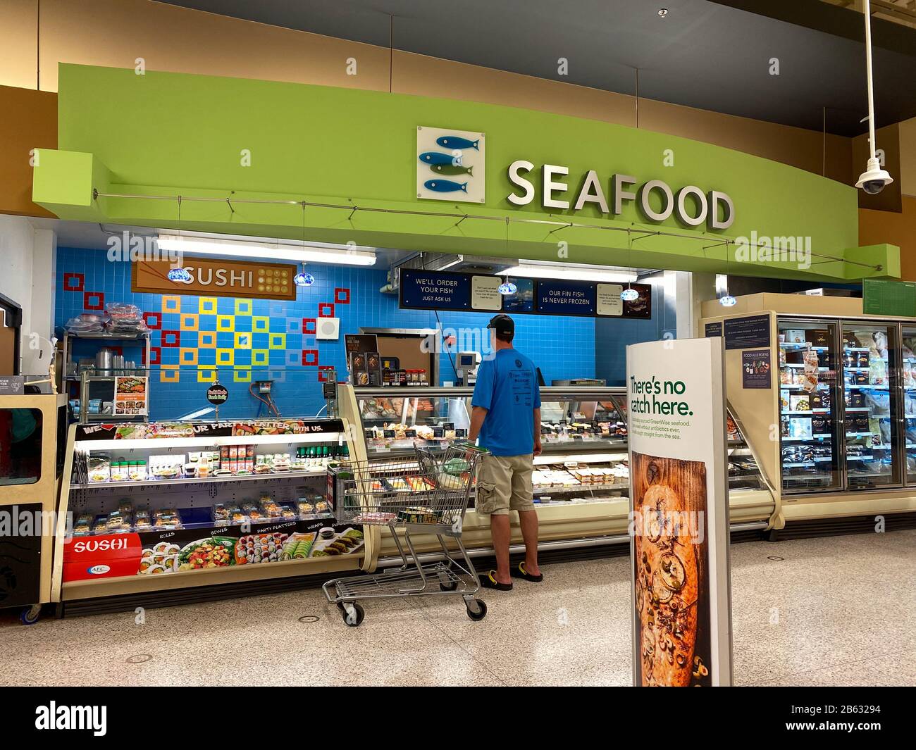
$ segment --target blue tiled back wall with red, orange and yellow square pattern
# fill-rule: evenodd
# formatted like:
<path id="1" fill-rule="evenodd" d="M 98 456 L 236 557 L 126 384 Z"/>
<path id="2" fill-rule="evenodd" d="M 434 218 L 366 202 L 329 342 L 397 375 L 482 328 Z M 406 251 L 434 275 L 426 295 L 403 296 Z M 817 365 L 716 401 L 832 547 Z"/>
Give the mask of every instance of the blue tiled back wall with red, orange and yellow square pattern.
<path id="1" fill-rule="evenodd" d="M 239 365 L 250 365 L 252 381 L 270 378 L 277 381 L 274 399 L 284 416 L 310 416 L 318 413 L 324 402 L 321 397 L 319 370 L 316 365 L 302 363 L 303 350 L 317 350 L 318 364 L 333 366 L 338 375 L 346 372 L 344 339 L 319 342 L 313 334 L 302 332 L 302 319 L 317 318 L 319 304 L 334 303 L 336 288 L 350 290 L 348 304 L 334 303 L 334 317 L 341 320 L 341 333 L 359 332 L 360 326 L 378 328 L 442 328 L 483 327 L 489 319 L 485 313 L 439 313 L 399 310 L 396 295 L 381 294 L 386 282 L 384 270 L 348 266 L 310 266 L 315 283 L 299 288 L 295 301 L 252 300 L 252 315 L 267 316 L 268 331 L 252 332 L 252 349 L 267 349 L 267 364 L 253 364 L 251 351 L 234 348 L 230 332 L 217 331 L 217 316 L 234 314 L 236 299 L 217 298 L 215 312 L 201 310 L 201 299 L 180 297 L 180 313 L 198 316 L 198 331 L 180 331 L 180 347 L 163 346 L 163 331 L 180 330 L 180 313 L 163 311 L 162 295 L 135 293 L 130 288 L 130 265 L 107 260 L 104 250 L 60 247 L 57 257 L 57 323 L 62 326 L 71 317 L 85 310 L 86 292 L 101 292 L 105 302 L 132 302 L 141 310 L 161 316 L 161 330 L 152 334 L 152 346 L 158 348 L 159 365 L 151 374 L 150 408 L 153 418 L 179 418 L 201 408 L 209 407 L 204 397 L 206 384 L 198 381 L 201 365 L 216 365 L 219 348 L 234 349 L 234 365 L 218 368 L 220 382 L 229 390 L 229 398 L 221 408 L 221 416 L 241 418 L 256 416 L 263 407 L 248 393 L 248 383 L 235 382 Z M 82 279 L 73 275 L 82 275 Z M 81 288 L 71 290 L 65 286 Z M 82 281 L 82 284 L 80 283 Z M 91 303 L 95 300 L 90 299 Z M 660 299 L 653 297 L 655 310 Z M 607 321 L 590 318 L 562 318 L 546 315 L 516 316 L 516 346 L 539 365 L 547 383 L 571 377 L 606 377 L 609 383 L 623 383 L 624 345 L 636 341 L 657 339 L 659 321 Z M 235 332 L 251 330 L 251 318 L 235 316 Z M 216 332 L 216 348 L 202 348 L 202 333 Z M 268 349 L 269 334 L 286 334 L 282 348 Z M 92 351 L 83 352 L 91 356 Z M 194 349 L 196 366 L 180 364 L 180 349 Z M 139 351 L 125 349 L 127 359 L 140 359 Z M 178 382 L 162 382 L 161 366 L 176 367 Z M 447 354 L 441 355 L 442 381 L 454 380 L 454 370 Z M 244 374 L 243 374 L 244 375 Z M 210 415 L 212 416 L 212 415 Z"/>

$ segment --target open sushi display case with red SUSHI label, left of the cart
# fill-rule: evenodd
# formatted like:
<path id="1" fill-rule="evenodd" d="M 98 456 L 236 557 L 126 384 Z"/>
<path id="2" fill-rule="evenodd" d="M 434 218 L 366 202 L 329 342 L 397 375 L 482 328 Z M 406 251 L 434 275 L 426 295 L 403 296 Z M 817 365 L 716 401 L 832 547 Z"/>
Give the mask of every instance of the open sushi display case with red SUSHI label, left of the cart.
<path id="1" fill-rule="evenodd" d="M 334 521 L 327 491 L 328 468 L 349 461 L 348 433 L 341 419 L 71 426 L 63 591 L 128 577 L 137 591 L 189 574 L 181 585 L 206 585 L 196 577 L 214 571 L 244 568 L 252 580 L 301 574 L 301 564 L 360 567 L 363 528 Z"/>

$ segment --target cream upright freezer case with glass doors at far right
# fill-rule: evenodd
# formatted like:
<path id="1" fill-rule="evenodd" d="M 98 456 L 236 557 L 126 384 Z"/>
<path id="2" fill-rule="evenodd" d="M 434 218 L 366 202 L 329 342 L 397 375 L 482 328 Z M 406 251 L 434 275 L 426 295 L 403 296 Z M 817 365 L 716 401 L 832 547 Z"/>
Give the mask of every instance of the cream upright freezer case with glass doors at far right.
<path id="1" fill-rule="evenodd" d="M 726 392 L 779 488 L 786 534 L 916 523 L 916 319 L 864 315 L 862 299 L 758 294 L 701 325 L 725 337 Z M 747 335 L 749 332 L 749 335 Z M 748 380 L 758 355 L 778 366 Z"/>

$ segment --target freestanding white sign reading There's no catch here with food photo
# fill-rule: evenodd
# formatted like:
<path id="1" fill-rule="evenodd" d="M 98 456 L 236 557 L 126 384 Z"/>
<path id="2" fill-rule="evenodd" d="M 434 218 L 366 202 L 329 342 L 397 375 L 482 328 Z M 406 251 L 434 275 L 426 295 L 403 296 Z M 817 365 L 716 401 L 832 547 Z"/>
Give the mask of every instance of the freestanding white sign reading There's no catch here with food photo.
<path id="1" fill-rule="evenodd" d="M 724 383 L 721 339 L 627 347 L 637 686 L 732 681 Z"/>

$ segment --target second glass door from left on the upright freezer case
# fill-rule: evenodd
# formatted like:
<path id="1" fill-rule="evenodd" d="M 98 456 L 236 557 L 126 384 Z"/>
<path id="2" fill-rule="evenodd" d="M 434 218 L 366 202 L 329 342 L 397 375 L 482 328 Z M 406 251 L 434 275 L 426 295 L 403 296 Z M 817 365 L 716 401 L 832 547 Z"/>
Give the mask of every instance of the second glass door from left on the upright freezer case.
<path id="1" fill-rule="evenodd" d="M 846 487 L 900 485 L 897 325 L 842 325 Z"/>

